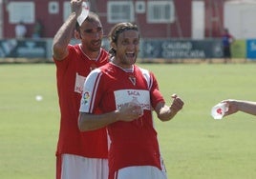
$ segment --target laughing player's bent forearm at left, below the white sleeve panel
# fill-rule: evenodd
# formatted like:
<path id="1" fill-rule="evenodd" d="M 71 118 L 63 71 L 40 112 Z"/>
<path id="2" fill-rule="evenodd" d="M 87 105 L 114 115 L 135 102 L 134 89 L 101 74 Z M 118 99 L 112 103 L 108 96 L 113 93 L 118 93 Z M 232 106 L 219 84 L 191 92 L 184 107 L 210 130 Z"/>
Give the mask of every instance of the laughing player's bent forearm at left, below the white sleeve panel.
<path id="1" fill-rule="evenodd" d="M 89 114 L 80 112 L 78 117 L 78 128 L 81 131 L 100 129 L 118 120 L 118 110 L 104 114 Z"/>

